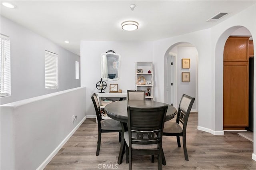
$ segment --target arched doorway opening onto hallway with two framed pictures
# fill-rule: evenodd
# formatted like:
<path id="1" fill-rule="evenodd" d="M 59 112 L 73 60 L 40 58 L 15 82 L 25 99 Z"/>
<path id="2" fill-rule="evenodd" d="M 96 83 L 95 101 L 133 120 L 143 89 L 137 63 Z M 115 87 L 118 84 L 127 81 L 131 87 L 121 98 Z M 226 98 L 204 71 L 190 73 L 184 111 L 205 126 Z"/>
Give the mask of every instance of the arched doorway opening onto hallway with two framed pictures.
<path id="1" fill-rule="evenodd" d="M 182 68 L 182 59 L 189 59 L 190 68 Z M 190 80 L 182 81 L 182 73 L 189 73 Z M 175 43 L 166 51 L 164 92 L 164 102 L 176 108 L 183 93 L 195 97 L 192 111 L 198 111 L 198 51 L 191 43 Z"/>

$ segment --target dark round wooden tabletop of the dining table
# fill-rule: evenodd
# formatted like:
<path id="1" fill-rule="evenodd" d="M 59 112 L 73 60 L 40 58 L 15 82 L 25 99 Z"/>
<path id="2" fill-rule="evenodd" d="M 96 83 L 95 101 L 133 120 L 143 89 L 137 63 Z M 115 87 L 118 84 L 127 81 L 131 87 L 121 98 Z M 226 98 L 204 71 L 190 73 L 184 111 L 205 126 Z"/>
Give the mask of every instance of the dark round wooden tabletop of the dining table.
<path id="1" fill-rule="evenodd" d="M 132 107 L 141 107 L 141 108 L 160 107 L 160 106 L 167 105 L 168 109 L 167 109 L 165 121 L 171 120 L 172 118 L 174 118 L 174 115 L 176 115 L 176 113 L 177 113 L 177 110 L 175 109 L 175 107 L 173 107 L 171 105 L 168 105 L 168 104 L 162 103 L 162 102 L 147 101 L 147 100 L 116 101 L 116 102 L 106 105 L 105 112 L 112 119 L 127 123 L 128 122 L 127 105 L 130 105 Z"/>

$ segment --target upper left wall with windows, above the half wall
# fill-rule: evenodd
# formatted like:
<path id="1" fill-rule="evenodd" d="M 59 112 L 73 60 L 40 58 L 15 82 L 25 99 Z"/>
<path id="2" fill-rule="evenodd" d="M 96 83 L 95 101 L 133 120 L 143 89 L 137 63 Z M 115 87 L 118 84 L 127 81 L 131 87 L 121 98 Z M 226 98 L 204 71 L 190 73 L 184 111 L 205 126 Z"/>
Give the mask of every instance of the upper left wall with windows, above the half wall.
<path id="1" fill-rule="evenodd" d="M 11 96 L 1 104 L 80 87 L 75 79 L 75 61 L 80 57 L 50 40 L 1 16 L 1 34 L 11 41 Z M 45 90 L 44 50 L 58 54 L 59 88 Z"/>

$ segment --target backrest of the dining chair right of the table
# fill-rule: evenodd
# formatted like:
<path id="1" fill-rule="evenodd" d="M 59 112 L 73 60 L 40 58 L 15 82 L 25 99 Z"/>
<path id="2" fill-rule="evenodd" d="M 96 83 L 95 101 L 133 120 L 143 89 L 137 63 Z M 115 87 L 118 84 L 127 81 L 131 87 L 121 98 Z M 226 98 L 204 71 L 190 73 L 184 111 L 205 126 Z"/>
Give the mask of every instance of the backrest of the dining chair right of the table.
<path id="1" fill-rule="evenodd" d="M 182 123 L 183 132 L 186 132 L 186 127 L 188 124 L 188 116 L 190 114 L 192 105 L 195 101 L 194 97 L 183 94 L 180 99 L 180 105 L 178 108 L 178 114 L 176 118 L 176 123 Z"/>

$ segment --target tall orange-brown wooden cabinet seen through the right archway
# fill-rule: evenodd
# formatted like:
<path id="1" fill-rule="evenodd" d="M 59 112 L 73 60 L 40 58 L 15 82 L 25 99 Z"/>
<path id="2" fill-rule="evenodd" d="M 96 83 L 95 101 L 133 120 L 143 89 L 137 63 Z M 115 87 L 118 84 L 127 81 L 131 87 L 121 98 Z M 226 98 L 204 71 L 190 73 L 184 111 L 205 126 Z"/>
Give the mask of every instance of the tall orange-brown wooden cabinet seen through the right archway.
<path id="1" fill-rule="evenodd" d="M 248 127 L 249 38 L 230 37 L 224 47 L 223 128 Z"/>

